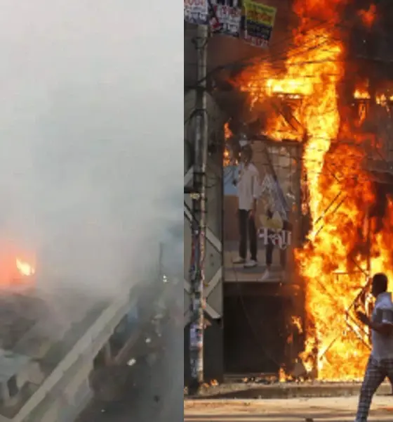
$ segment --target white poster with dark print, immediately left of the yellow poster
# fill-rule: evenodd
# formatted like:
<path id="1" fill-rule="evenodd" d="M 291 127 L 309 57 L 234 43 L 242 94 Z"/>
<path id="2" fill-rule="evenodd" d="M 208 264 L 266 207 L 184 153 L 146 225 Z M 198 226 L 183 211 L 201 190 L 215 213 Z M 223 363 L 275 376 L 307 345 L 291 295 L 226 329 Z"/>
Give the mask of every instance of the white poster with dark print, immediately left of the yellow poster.
<path id="1" fill-rule="evenodd" d="M 210 21 L 211 29 L 218 34 L 240 37 L 241 8 L 227 4 L 215 4 L 212 1 L 213 16 Z"/>

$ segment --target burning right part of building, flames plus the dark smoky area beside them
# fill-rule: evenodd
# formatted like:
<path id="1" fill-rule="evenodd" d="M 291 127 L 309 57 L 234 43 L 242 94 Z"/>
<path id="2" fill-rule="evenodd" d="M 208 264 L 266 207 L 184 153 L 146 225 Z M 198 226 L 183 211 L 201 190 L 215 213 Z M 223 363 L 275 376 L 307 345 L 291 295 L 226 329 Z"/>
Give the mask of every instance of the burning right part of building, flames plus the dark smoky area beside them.
<path id="1" fill-rule="evenodd" d="M 258 121 L 258 136 L 302 146 L 309 229 L 294 250 L 305 290 L 299 357 L 318 378 L 354 379 L 370 350 L 355 309 L 368 306 L 371 274 L 393 278 L 392 54 L 381 42 L 392 39 L 393 8 L 294 0 L 293 13 L 298 24 L 285 53 L 281 46 L 231 78 L 247 98 L 248 124 L 238 130 Z"/>

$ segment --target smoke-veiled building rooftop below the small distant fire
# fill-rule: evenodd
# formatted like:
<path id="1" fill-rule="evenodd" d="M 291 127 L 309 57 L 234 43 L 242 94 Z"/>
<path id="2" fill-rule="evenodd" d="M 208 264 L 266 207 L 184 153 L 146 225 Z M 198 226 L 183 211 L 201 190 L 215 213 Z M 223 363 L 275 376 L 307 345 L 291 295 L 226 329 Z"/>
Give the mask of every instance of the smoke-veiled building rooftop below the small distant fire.
<path id="1" fill-rule="evenodd" d="M 0 420 L 18 414 L 107 305 L 69 290 L 0 291 Z"/>

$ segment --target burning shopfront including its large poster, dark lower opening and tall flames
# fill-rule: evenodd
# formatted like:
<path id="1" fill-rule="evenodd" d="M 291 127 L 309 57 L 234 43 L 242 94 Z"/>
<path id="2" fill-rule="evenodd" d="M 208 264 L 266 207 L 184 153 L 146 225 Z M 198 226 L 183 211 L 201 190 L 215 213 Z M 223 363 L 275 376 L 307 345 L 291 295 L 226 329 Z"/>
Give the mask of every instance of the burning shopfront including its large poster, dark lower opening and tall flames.
<path id="1" fill-rule="evenodd" d="M 370 350 L 355 310 L 372 306 L 369 276 L 393 278 L 393 10 L 292 4 L 297 25 L 281 53 L 227 77 L 242 108 L 222 119 L 222 313 L 212 318 L 222 342 L 206 340 L 206 362 L 221 357 L 222 373 L 353 380 Z M 246 268 L 236 263 L 235 186 L 245 143 L 260 179 L 258 263 Z"/>

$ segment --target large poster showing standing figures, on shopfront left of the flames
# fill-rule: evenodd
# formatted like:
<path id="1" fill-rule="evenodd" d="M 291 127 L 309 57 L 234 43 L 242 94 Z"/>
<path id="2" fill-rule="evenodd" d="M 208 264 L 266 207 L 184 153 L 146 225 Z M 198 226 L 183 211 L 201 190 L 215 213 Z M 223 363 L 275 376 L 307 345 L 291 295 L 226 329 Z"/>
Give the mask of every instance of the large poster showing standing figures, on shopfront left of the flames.
<path id="1" fill-rule="evenodd" d="M 224 168 L 224 280 L 288 281 L 301 232 L 301 146 L 254 141 Z"/>

